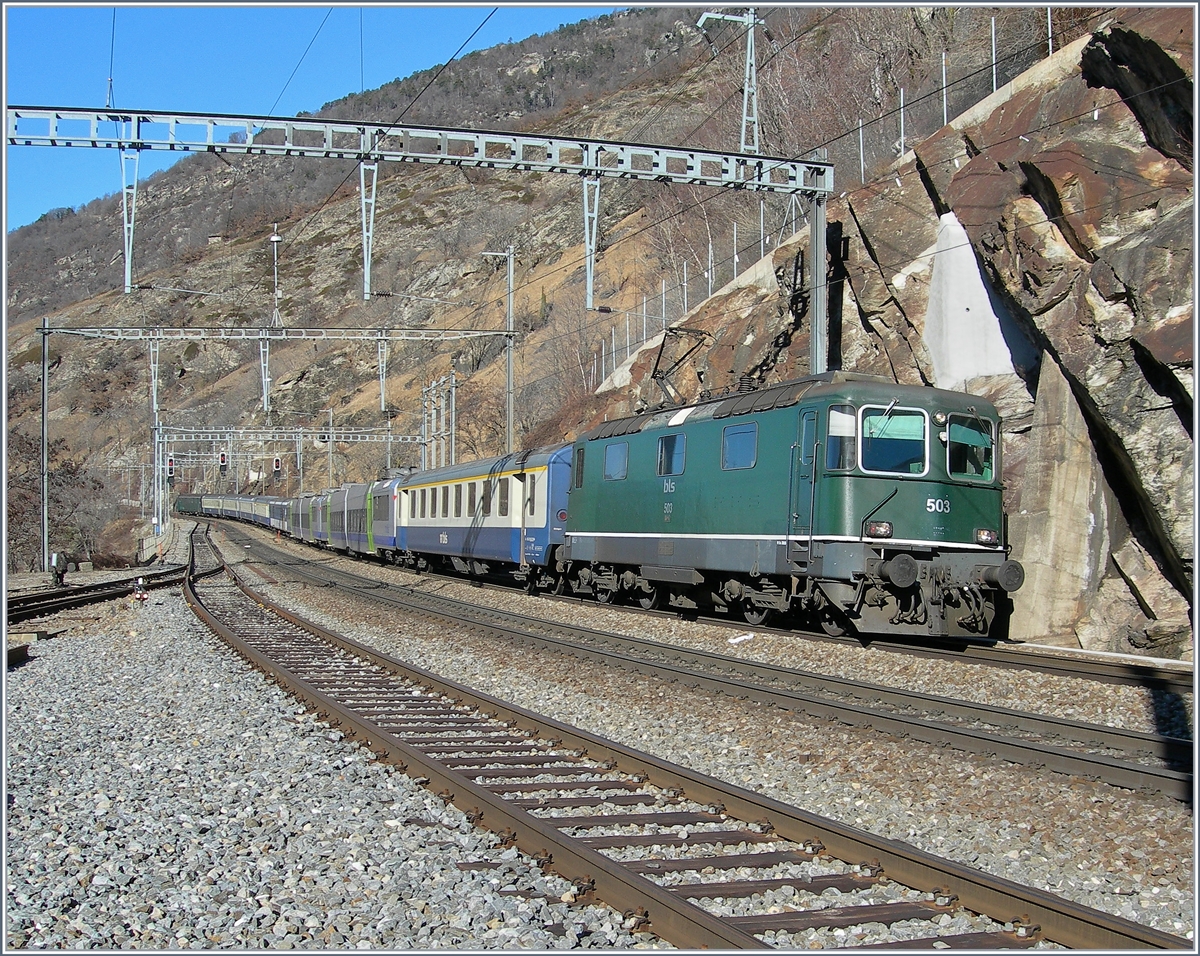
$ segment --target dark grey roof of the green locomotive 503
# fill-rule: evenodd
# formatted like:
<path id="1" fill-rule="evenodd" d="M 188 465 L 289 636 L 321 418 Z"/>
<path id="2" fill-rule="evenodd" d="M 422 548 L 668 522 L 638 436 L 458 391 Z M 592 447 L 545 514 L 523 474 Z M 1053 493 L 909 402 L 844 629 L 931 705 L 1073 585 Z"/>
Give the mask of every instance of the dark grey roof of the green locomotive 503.
<path id="1" fill-rule="evenodd" d="M 684 415 L 684 413 L 688 413 L 684 415 L 688 421 L 727 419 L 736 415 L 750 415 L 760 411 L 772 411 L 776 408 L 788 408 L 798 404 L 810 392 L 814 393 L 814 397 L 818 397 L 822 392 L 828 392 L 828 397 L 834 399 L 846 397 L 847 391 L 859 392 L 860 399 L 877 399 L 887 395 L 888 399 L 899 398 L 919 404 L 937 401 L 964 408 L 970 401 L 982 405 L 980 411 L 986 411 L 990 416 L 995 416 L 996 414 L 991 402 L 979 396 L 968 395 L 967 392 L 947 391 L 928 385 L 900 385 L 881 375 L 833 371 L 823 372 L 820 375 L 808 375 L 806 378 L 784 381 L 779 385 L 772 385 L 768 389 L 731 392 L 690 405 L 653 408 L 641 415 L 630 415 L 629 417 L 602 422 L 592 431 L 581 434 L 577 440 L 595 441 L 600 438 L 635 434 L 647 428 L 667 427 L 668 425 L 682 422 L 683 419 L 679 416 Z"/>

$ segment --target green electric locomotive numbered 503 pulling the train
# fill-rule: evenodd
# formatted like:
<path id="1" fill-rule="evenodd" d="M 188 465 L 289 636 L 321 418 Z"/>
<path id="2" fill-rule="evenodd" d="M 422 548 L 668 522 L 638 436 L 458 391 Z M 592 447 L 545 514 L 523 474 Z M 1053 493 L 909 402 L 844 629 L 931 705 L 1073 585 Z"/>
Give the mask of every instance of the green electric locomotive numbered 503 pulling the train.
<path id="1" fill-rule="evenodd" d="M 1008 558 L 1000 417 L 846 372 L 608 421 L 572 449 L 559 581 L 830 633 L 985 636 Z"/>

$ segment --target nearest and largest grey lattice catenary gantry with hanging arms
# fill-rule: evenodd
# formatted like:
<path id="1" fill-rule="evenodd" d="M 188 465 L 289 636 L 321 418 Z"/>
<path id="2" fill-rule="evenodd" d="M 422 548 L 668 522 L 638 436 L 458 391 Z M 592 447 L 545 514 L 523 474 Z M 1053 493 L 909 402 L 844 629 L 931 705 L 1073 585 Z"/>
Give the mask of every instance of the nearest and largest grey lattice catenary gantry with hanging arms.
<path id="1" fill-rule="evenodd" d="M 833 166 L 824 162 L 724 152 L 683 146 L 622 143 L 578 137 L 533 136 L 442 126 L 402 126 L 367 121 L 295 116 L 173 113 L 163 110 L 79 109 L 70 107 L 7 108 L 10 146 L 108 148 L 136 157 L 142 150 L 216 152 L 250 156 L 294 156 L 353 160 L 360 164 L 362 205 L 362 293 L 371 295 L 371 247 L 374 197 L 380 162 L 565 173 L 592 181 L 584 188 L 584 246 L 588 289 L 595 255 L 595 226 L 602 178 L 689 184 L 718 188 L 800 194 L 812 199 L 811 303 L 814 355 L 824 371 L 824 206 L 833 192 Z M 122 175 L 130 173 L 122 162 Z M 133 181 L 124 185 L 125 290 L 132 289 L 132 240 L 137 197 Z M 588 204 L 592 205 L 589 214 Z M 592 302 L 588 302 L 590 306 Z"/>

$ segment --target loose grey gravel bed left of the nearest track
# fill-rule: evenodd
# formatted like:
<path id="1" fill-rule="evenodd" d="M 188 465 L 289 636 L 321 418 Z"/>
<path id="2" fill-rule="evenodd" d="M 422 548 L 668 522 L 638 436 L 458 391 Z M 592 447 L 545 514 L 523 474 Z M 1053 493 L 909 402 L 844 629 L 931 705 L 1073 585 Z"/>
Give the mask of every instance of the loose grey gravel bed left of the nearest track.
<path id="1" fill-rule="evenodd" d="M 97 614 L 7 675 L 6 951 L 662 945 L 562 902 L 178 595 Z M 503 865 L 458 868 L 479 860 Z"/>

